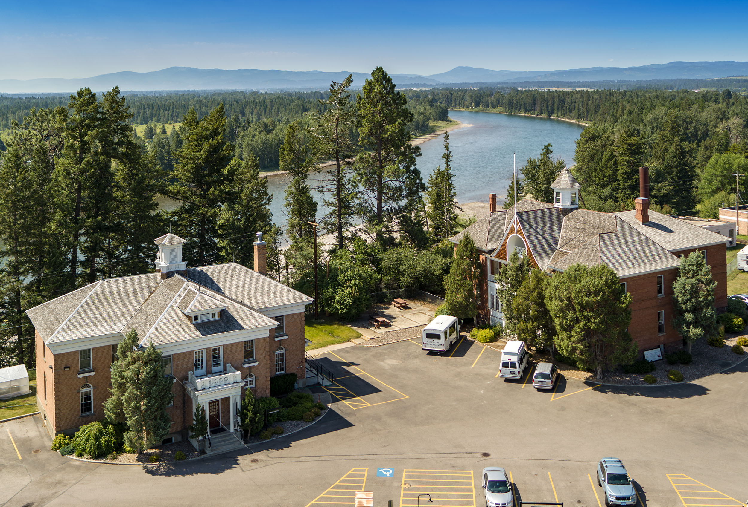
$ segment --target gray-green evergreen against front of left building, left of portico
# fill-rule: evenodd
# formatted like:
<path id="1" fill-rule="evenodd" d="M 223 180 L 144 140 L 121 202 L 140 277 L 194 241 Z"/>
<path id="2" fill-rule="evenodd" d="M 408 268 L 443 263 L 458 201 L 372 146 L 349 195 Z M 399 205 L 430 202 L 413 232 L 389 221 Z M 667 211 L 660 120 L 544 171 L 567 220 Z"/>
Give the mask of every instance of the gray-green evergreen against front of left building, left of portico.
<path id="1" fill-rule="evenodd" d="M 134 343 L 138 343 L 138 334 L 133 329 L 117 346 L 118 358 L 111 368 L 111 397 L 105 402 L 104 413 L 114 421 L 124 419 L 128 427 L 125 444 L 139 453 L 168 435 L 171 417 L 166 407 L 174 394 L 171 379 L 164 375 L 161 351 L 153 343 L 135 349 Z"/>

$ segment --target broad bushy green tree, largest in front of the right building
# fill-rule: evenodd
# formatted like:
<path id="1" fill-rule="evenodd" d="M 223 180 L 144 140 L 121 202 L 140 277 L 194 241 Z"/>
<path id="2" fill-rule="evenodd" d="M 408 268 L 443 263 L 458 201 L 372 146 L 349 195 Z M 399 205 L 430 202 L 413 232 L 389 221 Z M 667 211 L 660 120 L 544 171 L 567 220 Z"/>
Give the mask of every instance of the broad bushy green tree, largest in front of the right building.
<path id="1" fill-rule="evenodd" d="M 637 357 L 631 340 L 631 294 L 605 264 L 574 264 L 551 278 L 545 304 L 557 331 L 556 348 L 602 379 L 606 368 L 630 364 Z"/>

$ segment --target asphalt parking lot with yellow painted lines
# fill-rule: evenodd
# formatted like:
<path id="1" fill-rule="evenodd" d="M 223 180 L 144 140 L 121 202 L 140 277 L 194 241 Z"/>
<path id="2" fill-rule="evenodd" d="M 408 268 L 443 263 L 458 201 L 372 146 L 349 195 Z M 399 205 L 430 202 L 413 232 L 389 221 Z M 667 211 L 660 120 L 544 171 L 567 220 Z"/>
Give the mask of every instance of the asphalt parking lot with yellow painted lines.
<path id="1" fill-rule="evenodd" d="M 343 507 L 373 491 L 375 506 L 417 506 L 421 495 L 422 506 L 473 507 L 485 505 L 482 468 L 500 466 L 518 500 L 601 507 L 595 466 L 606 456 L 624 461 L 641 506 L 738 507 L 748 497 L 747 364 L 683 385 L 562 379 L 539 392 L 527 377 L 497 378 L 499 354 L 470 340 L 443 355 L 406 340 L 320 358 L 337 377 L 326 388 L 334 410 L 254 454 L 88 464 L 50 452 L 34 418 L 4 423 L 0 503 L 185 505 L 204 492 L 240 506 Z M 27 456 L 34 446 L 41 452 Z"/>

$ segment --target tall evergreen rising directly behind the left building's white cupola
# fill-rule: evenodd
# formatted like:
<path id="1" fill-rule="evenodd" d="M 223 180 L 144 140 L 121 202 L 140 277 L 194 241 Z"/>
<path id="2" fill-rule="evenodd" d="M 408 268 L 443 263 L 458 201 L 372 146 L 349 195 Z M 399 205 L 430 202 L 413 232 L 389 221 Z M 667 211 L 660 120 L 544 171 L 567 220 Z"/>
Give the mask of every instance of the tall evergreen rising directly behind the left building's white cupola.
<path id="1" fill-rule="evenodd" d="M 182 202 L 169 214 L 179 234 L 196 249 L 186 249 L 188 264 L 204 266 L 219 258 L 217 227 L 221 205 L 227 202 L 226 190 L 234 175 L 227 169 L 233 146 L 227 143 L 226 115 L 221 103 L 203 119 L 197 118 L 194 108 L 183 120 L 186 134 L 182 148 L 174 151 L 177 164 L 165 193 Z"/>

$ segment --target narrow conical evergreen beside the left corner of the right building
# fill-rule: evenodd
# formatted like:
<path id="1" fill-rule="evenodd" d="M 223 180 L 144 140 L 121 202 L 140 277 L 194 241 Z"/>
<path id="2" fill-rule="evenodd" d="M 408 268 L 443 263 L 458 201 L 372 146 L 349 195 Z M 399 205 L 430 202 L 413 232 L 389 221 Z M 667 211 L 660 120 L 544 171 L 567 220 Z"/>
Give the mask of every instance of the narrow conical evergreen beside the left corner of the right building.
<path id="1" fill-rule="evenodd" d="M 444 299 L 453 317 L 477 318 L 481 277 L 478 249 L 473 238 L 469 234 L 463 234 L 455 249 L 450 274 L 444 278 Z"/>

